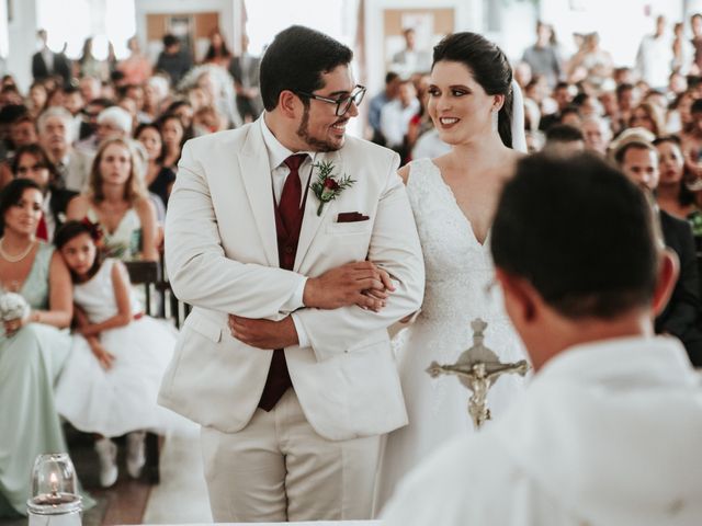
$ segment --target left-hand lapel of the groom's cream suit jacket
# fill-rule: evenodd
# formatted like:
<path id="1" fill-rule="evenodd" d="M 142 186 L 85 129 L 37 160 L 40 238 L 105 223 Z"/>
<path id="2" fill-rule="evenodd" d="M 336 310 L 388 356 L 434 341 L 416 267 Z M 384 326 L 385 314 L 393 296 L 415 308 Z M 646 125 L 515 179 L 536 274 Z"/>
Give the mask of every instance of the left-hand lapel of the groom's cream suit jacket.
<path id="1" fill-rule="evenodd" d="M 279 266 L 271 167 L 268 162 L 265 144 L 258 124 L 251 126 L 251 133 L 238 158 L 241 179 L 251 204 L 253 220 L 261 237 L 268 264 L 270 266 Z"/>

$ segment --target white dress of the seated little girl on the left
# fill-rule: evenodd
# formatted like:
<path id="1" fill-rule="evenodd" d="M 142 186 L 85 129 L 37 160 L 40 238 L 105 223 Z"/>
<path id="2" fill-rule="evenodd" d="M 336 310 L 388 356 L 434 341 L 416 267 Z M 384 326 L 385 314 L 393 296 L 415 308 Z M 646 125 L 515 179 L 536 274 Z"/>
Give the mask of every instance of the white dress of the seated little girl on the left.
<path id="1" fill-rule="evenodd" d="M 117 313 L 112 284 L 115 260 L 107 259 L 88 282 L 73 287 L 73 301 L 91 323 Z M 76 428 L 106 437 L 139 430 L 165 433 L 179 420 L 157 404 L 161 377 L 176 346 L 176 331 L 141 315 L 128 287 L 133 320 L 100 334 L 115 358 L 105 370 L 86 339 L 76 334 L 70 356 L 58 381 L 56 408 Z"/>

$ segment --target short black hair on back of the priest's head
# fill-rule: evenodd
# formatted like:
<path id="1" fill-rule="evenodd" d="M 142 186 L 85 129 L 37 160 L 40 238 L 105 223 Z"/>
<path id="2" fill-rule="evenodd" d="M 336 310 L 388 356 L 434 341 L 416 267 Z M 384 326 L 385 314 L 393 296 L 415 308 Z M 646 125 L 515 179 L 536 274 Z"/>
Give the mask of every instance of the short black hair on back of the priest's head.
<path id="1" fill-rule="evenodd" d="M 495 265 L 571 319 L 649 305 L 663 242 L 644 192 L 591 153 L 519 161 L 492 225 Z"/>

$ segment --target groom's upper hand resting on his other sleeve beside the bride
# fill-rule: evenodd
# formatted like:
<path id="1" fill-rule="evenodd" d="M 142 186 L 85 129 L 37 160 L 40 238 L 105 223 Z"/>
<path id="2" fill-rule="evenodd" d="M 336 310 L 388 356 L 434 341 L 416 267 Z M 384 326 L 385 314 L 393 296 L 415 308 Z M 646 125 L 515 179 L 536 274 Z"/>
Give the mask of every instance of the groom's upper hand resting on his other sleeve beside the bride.
<path id="1" fill-rule="evenodd" d="M 385 307 L 388 291 L 394 290 L 387 272 L 370 261 L 358 261 L 331 268 L 319 277 L 308 278 L 303 302 L 305 307 L 317 309 L 358 305 L 377 311 Z"/>

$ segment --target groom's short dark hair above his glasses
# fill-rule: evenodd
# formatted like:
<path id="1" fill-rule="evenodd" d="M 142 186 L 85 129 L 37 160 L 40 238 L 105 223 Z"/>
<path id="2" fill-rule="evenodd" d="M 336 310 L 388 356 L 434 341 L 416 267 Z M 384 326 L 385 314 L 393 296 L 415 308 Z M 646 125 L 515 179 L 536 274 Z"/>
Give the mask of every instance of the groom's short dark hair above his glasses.
<path id="1" fill-rule="evenodd" d="M 353 52 L 328 35 L 302 25 L 280 32 L 261 59 L 260 88 L 263 106 L 278 106 L 281 92 L 313 93 L 324 88 L 321 73 L 351 62 Z M 299 96 L 299 95 L 298 95 Z M 305 105 L 309 99 L 301 96 Z"/>

